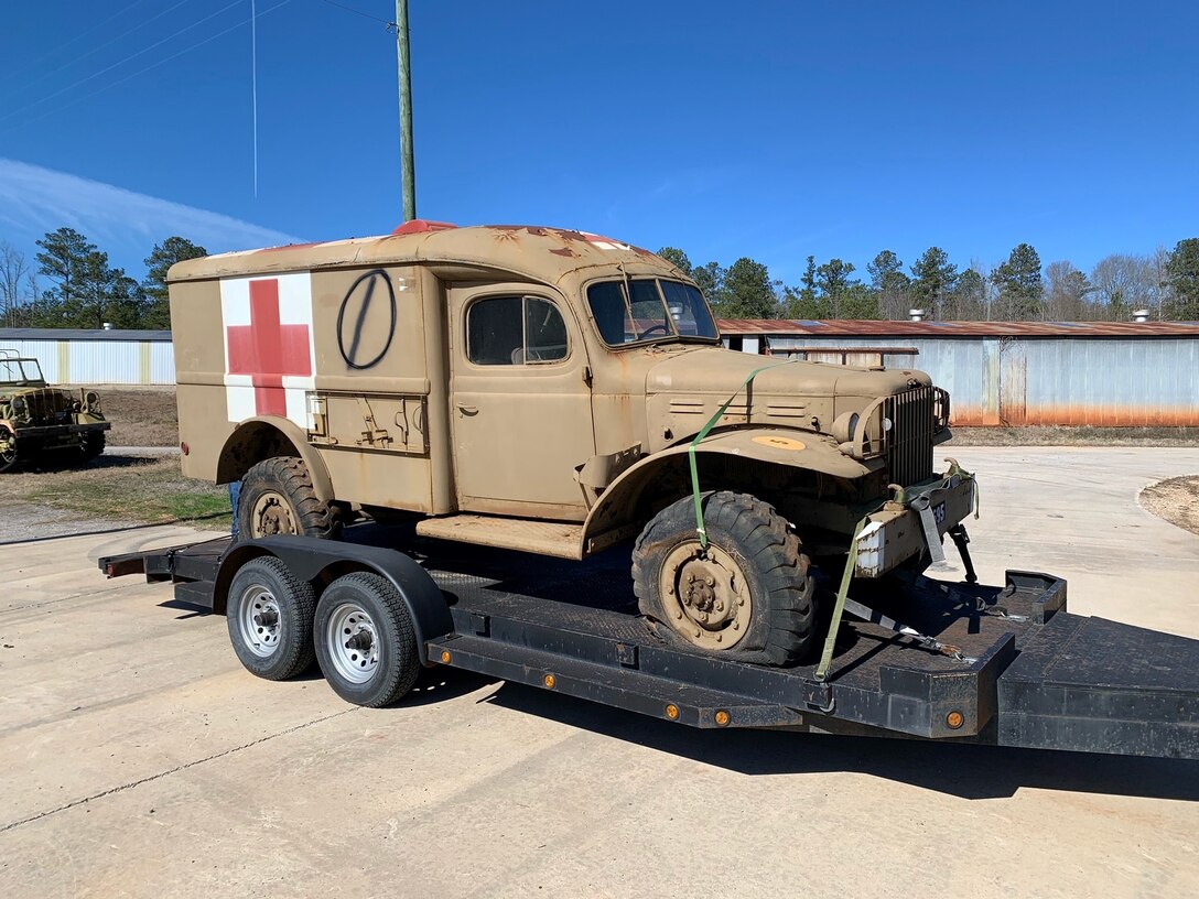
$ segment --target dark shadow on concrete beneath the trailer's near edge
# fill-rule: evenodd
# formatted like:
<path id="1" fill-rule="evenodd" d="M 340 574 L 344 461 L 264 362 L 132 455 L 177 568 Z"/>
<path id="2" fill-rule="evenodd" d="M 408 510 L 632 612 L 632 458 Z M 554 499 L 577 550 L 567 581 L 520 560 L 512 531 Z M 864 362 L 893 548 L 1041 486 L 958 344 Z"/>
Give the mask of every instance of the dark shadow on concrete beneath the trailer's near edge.
<path id="1" fill-rule="evenodd" d="M 480 678 L 478 686 L 484 681 Z M 966 800 L 1022 788 L 1199 801 L 1199 762 L 753 730 L 697 730 L 505 683 L 487 701 L 742 774 L 869 774 Z"/>

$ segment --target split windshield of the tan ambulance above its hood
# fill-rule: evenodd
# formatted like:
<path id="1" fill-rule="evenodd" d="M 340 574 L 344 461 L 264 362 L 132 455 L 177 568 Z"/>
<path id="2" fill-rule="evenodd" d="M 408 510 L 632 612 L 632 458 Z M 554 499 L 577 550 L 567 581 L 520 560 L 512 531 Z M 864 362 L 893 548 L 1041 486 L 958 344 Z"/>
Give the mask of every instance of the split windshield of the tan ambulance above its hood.
<path id="1" fill-rule="evenodd" d="M 588 304 L 609 346 L 645 340 L 716 338 L 704 295 L 691 284 L 658 278 L 621 278 L 588 288 Z"/>

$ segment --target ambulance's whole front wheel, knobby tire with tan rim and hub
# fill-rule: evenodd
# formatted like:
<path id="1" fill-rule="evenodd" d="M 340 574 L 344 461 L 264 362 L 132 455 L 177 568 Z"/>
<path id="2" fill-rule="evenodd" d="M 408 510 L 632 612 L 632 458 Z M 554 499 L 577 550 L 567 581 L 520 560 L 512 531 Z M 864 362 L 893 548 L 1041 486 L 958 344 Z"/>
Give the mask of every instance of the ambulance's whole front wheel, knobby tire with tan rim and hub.
<path id="1" fill-rule="evenodd" d="M 668 506 L 633 549 L 633 592 L 668 635 L 741 662 L 787 665 L 813 642 L 815 584 L 800 538 L 747 494 L 701 497 L 705 550 L 692 497 Z"/>

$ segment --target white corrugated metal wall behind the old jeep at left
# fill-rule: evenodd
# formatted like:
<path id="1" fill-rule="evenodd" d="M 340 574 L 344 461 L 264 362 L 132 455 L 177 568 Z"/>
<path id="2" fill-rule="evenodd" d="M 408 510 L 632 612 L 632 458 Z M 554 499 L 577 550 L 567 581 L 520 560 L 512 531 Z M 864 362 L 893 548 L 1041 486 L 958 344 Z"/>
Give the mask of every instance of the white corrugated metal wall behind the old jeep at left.
<path id="1" fill-rule="evenodd" d="M 170 340 L 24 340 L 0 336 L 0 350 L 32 356 L 52 384 L 175 382 Z"/>

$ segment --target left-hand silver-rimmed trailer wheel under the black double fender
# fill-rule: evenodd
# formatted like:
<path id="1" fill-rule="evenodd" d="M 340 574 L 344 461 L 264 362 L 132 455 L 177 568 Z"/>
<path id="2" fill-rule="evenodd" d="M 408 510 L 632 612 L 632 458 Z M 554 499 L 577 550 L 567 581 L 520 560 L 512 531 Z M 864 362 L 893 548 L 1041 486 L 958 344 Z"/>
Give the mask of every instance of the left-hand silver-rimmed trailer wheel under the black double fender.
<path id="1" fill-rule="evenodd" d="M 269 681 L 312 666 L 312 619 L 317 595 L 273 556 L 246 562 L 229 585 L 225 622 L 241 664 Z"/>

